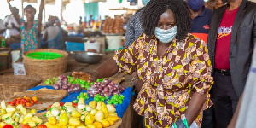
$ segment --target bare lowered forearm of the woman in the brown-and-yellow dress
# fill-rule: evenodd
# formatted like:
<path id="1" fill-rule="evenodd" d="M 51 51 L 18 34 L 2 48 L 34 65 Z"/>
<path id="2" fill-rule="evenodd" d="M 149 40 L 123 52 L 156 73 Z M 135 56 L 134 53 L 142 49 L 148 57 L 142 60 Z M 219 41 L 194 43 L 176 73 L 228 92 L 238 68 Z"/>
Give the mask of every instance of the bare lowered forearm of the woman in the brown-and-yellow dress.
<path id="1" fill-rule="evenodd" d="M 191 125 L 195 120 L 195 118 L 200 113 L 204 102 L 206 102 L 206 97 L 207 95 L 201 94 L 198 92 L 195 92 L 194 95 L 192 96 L 189 102 L 188 109 L 185 113 L 186 119 L 188 121 L 188 125 Z"/>

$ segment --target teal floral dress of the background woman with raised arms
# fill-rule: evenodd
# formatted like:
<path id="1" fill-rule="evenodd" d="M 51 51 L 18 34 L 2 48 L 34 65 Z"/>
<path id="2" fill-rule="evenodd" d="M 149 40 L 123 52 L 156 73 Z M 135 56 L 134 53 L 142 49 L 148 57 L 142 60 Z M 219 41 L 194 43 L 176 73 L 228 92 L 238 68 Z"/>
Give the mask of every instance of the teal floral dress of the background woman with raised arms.
<path id="1" fill-rule="evenodd" d="M 30 30 L 26 30 L 25 21 L 20 19 L 20 31 L 21 31 L 21 52 L 34 50 L 40 48 L 38 38 L 38 20 L 35 20 Z"/>

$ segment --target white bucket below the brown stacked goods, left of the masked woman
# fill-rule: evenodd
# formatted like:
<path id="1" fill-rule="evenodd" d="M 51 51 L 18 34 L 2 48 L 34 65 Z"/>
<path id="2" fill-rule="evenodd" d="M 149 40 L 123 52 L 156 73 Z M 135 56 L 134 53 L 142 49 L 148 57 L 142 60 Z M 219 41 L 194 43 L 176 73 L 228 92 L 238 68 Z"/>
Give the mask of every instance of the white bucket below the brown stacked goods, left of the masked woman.
<path id="1" fill-rule="evenodd" d="M 122 36 L 106 36 L 108 49 L 119 49 L 122 47 Z"/>

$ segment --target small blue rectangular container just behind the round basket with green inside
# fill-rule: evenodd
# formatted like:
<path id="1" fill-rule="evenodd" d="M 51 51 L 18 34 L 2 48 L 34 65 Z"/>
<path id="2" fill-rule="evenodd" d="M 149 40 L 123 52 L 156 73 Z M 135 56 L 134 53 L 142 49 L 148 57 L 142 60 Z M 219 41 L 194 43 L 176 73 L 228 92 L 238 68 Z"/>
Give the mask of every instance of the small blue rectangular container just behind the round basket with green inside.
<path id="1" fill-rule="evenodd" d="M 84 51 L 84 43 L 66 42 L 67 51 Z"/>

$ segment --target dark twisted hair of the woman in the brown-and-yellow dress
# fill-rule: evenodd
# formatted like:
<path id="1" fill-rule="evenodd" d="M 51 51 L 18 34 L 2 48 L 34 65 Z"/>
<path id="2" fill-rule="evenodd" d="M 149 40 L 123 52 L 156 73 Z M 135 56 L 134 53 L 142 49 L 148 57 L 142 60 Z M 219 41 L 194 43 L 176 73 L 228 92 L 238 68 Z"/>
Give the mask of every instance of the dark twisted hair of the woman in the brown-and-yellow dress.
<path id="1" fill-rule="evenodd" d="M 187 3 L 183 0 L 151 0 L 141 16 L 144 33 L 150 37 L 160 20 L 160 15 L 171 9 L 177 23 L 177 40 L 186 38 L 191 31 L 191 17 Z"/>

